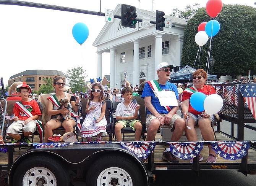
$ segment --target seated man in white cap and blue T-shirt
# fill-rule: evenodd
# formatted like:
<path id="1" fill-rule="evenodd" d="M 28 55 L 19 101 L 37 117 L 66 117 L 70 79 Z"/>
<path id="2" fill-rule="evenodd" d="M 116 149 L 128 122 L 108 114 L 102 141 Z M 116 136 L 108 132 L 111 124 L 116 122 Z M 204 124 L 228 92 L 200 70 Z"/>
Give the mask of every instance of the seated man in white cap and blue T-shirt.
<path id="1" fill-rule="evenodd" d="M 168 82 L 172 69 L 173 65 L 166 62 L 160 63 L 156 69 L 158 79 L 147 81 L 141 95 L 145 99 L 145 106 L 148 110 L 146 120 L 147 141 L 154 141 L 157 131 L 163 125 L 171 127 L 173 132 L 171 141 L 178 141 L 183 134 L 185 121 L 176 114 L 179 108 L 177 86 Z M 168 99 L 165 99 L 165 97 Z M 166 106 L 166 104 L 170 105 Z M 170 152 L 170 148 L 165 149 L 162 159 L 173 163 L 179 162 Z"/>

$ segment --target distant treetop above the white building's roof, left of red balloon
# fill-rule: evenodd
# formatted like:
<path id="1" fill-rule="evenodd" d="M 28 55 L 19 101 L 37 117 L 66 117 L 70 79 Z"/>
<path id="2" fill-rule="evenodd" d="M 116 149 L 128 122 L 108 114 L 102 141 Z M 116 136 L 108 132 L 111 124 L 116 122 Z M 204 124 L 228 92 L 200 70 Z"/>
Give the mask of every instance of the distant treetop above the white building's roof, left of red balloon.
<path id="1" fill-rule="evenodd" d="M 199 8 L 198 3 L 195 3 L 194 5 L 192 5 L 192 7 L 191 5 L 187 5 L 185 8 L 185 11 L 178 10 L 178 8 L 173 8 L 173 12 L 172 14 L 170 14 L 170 16 L 178 17 L 181 19 L 189 19 L 194 16 L 198 8 Z"/>

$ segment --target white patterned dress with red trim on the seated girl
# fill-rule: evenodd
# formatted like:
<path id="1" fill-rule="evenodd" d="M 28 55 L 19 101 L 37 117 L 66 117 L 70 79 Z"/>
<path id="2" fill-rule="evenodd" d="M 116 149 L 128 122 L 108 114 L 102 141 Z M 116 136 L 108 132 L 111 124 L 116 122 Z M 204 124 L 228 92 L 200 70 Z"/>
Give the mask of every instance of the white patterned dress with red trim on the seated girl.
<path id="1" fill-rule="evenodd" d="M 90 102 L 89 106 L 97 106 L 95 110 L 92 110 L 89 114 L 86 114 L 86 117 L 84 119 L 82 129 L 81 129 L 81 136 L 82 137 L 92 137 L 96 136 L 100 132 L 106 132 L 106 125 L 107 125 L 107 120 L 104 116 L 104 118 L 96 123 L 94 118 L 96 119 L 100 117 L 101 114 L 101 108 L 102 105 L 99 105 L 99 102 Z"/>

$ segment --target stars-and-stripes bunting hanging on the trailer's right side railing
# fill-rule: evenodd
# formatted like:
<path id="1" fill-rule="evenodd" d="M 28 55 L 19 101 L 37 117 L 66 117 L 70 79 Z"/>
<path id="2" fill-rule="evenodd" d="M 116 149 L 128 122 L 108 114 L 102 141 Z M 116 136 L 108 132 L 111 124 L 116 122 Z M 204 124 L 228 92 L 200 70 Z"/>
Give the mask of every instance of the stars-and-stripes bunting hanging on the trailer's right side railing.
<path id="1" fill-rule="evenodd" d="M 240 84 L 239 91 L 248 105 L 254 119 L 256 118 L 256 84 Z"/>

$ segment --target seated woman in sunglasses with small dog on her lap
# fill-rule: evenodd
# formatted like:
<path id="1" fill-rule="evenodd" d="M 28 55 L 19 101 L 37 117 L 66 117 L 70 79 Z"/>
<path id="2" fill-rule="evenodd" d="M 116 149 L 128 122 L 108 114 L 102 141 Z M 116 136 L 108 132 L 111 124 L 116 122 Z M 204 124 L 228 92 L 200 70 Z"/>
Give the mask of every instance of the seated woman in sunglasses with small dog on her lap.
<path id="1" fill-rule="evenodd" d="M 51 116 L 57 115 L 57 114 L 67 114 L 68 112 L 71 112 L 72 119 L 69 120 L 61 120 L 61 121 L 55 121 L 54 119 L 50 119 L 45 125 L 44 129 L 44 135 L 45 135 L 45 142 L 49 142 L 48 138 L 52 137 L 53 130 L 63 127 L 65 129 L 65 132 L 73 132 L 73 126 L 78 124 L 80 126 L 80 118 L 76 113 L 78 112 L 79 108 L 79 102 L 80 97 L 76 98 L 76 101 L 70 101 L 71 94 L 68 94 L 63 91 L 63 88 L 65 86 L 64 79 L 60 76 L 55 76 L 53 79 L 53 87 L 55 89 L 55 94 L 51 95 L 47 98 L 48 100 L 48 114 Z M 68 104 L 71 106 L 71 110 L 68 108 L 62 108 L 60 105 L 60 99 L 68 99 Z"/>

